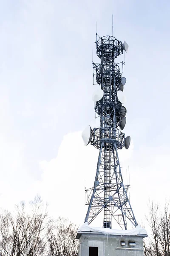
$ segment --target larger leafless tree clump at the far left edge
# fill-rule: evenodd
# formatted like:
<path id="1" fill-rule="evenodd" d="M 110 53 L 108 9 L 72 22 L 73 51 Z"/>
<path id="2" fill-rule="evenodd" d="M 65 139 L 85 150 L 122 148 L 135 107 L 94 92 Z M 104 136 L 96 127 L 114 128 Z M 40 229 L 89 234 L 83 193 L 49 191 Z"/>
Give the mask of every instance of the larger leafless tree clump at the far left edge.
<path id="1" fill-rule="evenodd" d="M 31 214 L 26 213 L 23 202 L 16 215 L 5 211 L 0 215 L 0 256 L 44 256 L 46 209 L 42 210 L 40 197 L 30 203 Z"/>

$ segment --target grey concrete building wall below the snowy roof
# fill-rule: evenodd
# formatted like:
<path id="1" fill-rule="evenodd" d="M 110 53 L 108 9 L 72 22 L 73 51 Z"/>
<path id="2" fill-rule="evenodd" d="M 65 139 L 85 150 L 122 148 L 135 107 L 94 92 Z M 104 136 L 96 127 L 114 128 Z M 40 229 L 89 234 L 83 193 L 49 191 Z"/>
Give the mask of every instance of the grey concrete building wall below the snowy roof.
<path id="1" fill-rule="evenodd" d="M 121 241 L 125 241 L 124 246 Z M 136 246 L 129 246 L 129 241 L 134 241 Z M 141 236 L 82 234 L 79 244 L 79 256 L 88 256 L 90 246 L 98 247 L 98 256 L 143 256 Z"/>

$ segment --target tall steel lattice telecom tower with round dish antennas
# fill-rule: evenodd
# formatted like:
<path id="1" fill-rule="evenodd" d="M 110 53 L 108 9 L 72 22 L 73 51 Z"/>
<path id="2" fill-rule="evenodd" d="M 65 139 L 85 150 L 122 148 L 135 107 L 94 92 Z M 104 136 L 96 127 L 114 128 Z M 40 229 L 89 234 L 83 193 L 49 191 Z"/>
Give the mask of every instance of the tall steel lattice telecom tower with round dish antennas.
<path id="1" fill-rule="evenodd" d="M 130 201 L 127 196 L 128 186 L 123 183 L 118 149 L 130 145 L 130 136 L 125 138 L 121 130 L 126 123 L 126 108 L 122 105 L 121 95 L 126 79 L 122 78 L 115 58 L 127 52 L 126 42 L 118 41 L 113 36 L 99 37 L 96 34 L 96 52 L 101 63 L 93 62 L 94 77 L 99 84 L 93 99 L 96 115 L 100 116 L 100 127 L 93 131 L 88 126 L 82 133 L 85 145 L 91 142 L 99 149 L 94 187 L 86 189 L 88 211 L 85 222 L 90 224 L 100 212 L 104 213 L 103 227 L 112 228 L 115 220 L 122 229 L 127 229 L 127 219 L 136 227 Z M 121 62 L 122 67 L 125 64 Z M 120 129 L 119 129 L 120 128 Z"/>

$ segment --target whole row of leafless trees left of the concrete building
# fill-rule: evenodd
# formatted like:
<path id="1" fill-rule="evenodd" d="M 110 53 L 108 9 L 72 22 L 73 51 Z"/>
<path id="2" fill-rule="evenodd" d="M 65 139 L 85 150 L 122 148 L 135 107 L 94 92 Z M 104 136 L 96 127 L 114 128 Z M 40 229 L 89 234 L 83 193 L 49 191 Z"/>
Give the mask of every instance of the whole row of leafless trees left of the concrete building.
<path id="1" fill-rule="evenodd" d="M 0 256 L 77 256 L 76 233 L 67 219 L 49 218 L 37 196 L 28 209 L 21 202 L 14 215 L 0 214 Z"/>

